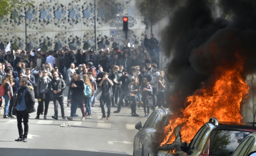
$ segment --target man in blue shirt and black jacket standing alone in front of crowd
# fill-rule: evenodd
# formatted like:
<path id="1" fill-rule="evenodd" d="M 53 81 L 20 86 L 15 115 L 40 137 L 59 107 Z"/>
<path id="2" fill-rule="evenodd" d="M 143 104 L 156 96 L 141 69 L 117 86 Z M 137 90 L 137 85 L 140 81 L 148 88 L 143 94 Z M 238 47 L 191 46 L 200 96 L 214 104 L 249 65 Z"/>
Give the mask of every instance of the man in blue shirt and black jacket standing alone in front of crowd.
<path id="1" fill-rule="evenodd" d="M 28 113 L 33 113 L 36 111 L 35 109 L 35 96 L 34 92 L 28 87 L 27 79 L 20 79 L 20 88 L 17 94 L 17 101 L 15 103 L 15 110 L 17 115 L 17 125 L 19 130 L 19 138 L 15 139 L 15 141 L 23 141 L 27 142 L 28 136 Z M 24 124 L 24 134 L 22 129 L 22 118 Z"/>

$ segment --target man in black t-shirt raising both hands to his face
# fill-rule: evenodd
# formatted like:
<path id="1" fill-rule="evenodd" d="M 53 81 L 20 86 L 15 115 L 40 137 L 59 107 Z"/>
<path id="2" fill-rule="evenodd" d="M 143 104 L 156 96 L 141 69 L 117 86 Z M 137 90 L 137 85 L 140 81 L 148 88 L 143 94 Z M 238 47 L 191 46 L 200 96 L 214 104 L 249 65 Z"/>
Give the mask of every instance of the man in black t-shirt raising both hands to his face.
<path id="1" fill-rule="evenodd" d="M 102 87 L 102 92 L 101 92 L 101 97 L 100 97 L 100 107 L 101 107 L 101 112 L 102 112 L 102 118 L 106 118 L 105 115 L 105 109 L 104 105 L 106 103 L 108 112 L 107 112 L 107 120 L 110 120 L 110 107 L 111 107 L 111 86 L 113 86 L 112 80 L 108 78 L 108 73 L 105 72 L 103 75 L 102 80 L 100 81 L 99 84 L 100 87 Z"/>

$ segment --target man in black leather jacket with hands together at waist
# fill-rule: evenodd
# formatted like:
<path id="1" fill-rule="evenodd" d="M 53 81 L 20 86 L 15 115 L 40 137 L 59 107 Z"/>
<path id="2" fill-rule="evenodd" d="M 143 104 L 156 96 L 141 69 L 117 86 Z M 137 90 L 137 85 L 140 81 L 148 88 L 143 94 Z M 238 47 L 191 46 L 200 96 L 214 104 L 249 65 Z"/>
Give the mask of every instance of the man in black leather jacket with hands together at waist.
<path id="1" fill-rule="evenodd" d="M 62 78 L 59 77 L 58 72 L 53 72 L 53 79 L 50 84 L 50 89 L 53 92 L 53 104 L 54 104 L 54 116 L 52 118 L 58 120 L 58 104 L 60 104 L 61 116 L 63 119 L 66 119 L 64 113 L 64 95 L 63 91 L 66 88 L 65 82 Z"/>

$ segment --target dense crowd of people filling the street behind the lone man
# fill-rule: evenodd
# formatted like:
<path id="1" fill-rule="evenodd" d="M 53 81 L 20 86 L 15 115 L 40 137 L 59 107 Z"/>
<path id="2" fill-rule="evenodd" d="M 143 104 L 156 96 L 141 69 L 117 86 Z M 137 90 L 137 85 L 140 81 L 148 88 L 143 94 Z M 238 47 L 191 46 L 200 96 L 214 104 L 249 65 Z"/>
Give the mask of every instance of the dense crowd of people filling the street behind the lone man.
<path id="1" fill-rule="evenodd" d="M 63 101 L 65 88 L 68 88 L 65 95 L 68 97 L 67 106 L 71 107 L 70 116 L 67 117 L 69 120 L 78 116 L 77 107 L 82 112 L 81 120 L 91 118 L 95 98 L 100 101 L 101 119 L 109 120 L 111 107 L 117 107 L 113 112 L 119 113 L 122 106 L 130 107 L 132 116 L 139 116 L 136 107 L 143 107 L 145 117 L 148 117 L 150 106 L 154 109 L 165 105 L 166 81 L 164 72 L 158 70 L 159 48 L 147 40 L 143 44 L 122 50 L 106 48 L 98 53 L 93 49 L 70 51 L 68 47 L 47 52 L 0 51 L 0 82 L 5 89 L 4 118 L 15 118 L 13 108 L 21 78 L 27 79 L 28 86 L 38 99 L 36 119 L 40 115 L 46 119 L 51 100 L 55 113 L 52 118 L 58 119 L 60 105 L 61 116 L 66 119 Z M 148 50 L 150 46 L 153 48 Z"/>

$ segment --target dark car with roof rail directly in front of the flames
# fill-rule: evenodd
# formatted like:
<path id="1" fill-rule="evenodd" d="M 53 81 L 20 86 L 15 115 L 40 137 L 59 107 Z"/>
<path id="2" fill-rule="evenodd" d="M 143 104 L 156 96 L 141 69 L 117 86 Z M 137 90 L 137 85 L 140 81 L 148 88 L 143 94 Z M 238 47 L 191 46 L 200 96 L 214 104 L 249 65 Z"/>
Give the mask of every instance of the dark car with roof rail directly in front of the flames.
<path id="1" fill-rule="evenodd" d="M 185 152 L 183 156 L 231 156 L 242 140 L 255 131 L 256 127 L 249 123 L 219 122 L 211 117 L 198 130 L 189 146 L 183 142 L 180 149 Z M 173 155 L 168 152 L 160 148 L 158 156 Z"/>

